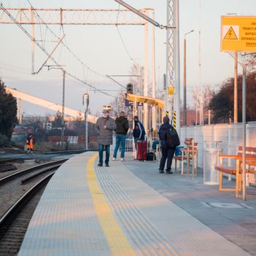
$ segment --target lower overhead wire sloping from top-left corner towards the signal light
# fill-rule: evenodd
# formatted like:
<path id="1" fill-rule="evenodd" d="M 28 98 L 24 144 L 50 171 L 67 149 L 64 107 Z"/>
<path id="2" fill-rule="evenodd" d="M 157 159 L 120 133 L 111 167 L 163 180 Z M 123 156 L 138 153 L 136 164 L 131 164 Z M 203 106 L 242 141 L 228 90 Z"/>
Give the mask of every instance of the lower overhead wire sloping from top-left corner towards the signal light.
<path id="1" fill-rule="evenodd" d="M 45 50 L 45 48 L 44 48 L 42 45 L 40 45 L 39 42 L 37 42 L 37 40 L 34 39 L 34 37 L 32 37 L 31 34 L 29 34 L 29 32 L 26 31 L 26 29 L 23 28 L 23 26 L 21 26 L 20 23 L 18 23 L 18 21 L 10 14 L 10 12 L 8 12 L 8 11 L 3 7 L 3 4 L 0 4 L 0 8 L 1 8 L 1 10 L 3 10 L 3 11 L 10 17 L 10 19 L 12 19 L 12 20 L 18 25 L 18 27 L 19 27 L 31 40 L 34 41 L 34 43 L 38 46 L 38 48 L 39 48 L 40 50 L 42 50 L 47 56 L 49 56 L 48 51 Z M 60 66 L 60 64 L 53 58 L 53 56 L 50 56 L 49 59 L 51 59 L 51 61 L 53 61 L 54 64 Z M 63 69 L 63 68 L 62 68 L 62 69 Z M 65 70 L 65 69 L 63 69 L 63 70 Z M 106 95 L 108 95 L 108 96 L 110 96 L 110 97 L 113 97 L 113 98 L 115 98 L 115 99 L 118 99 L 118 97 L 115 97 L 115 96 L 113 96 L 113 95 L 111 95 L 111 94 L 108 94 L 108 93 L 106 93 L 106 92 L 104 92 L 104 91 L 101 91 L 100 89 L 97 89 L 95 86 L 92 86 L 91 84 L 87 83 L 86 81 L 83 81 L 83 80 L 81 80 L 80 78 L 76 77 L 75 75 L 72 75 L 72 74 L 71 74 L 70 72 L 68 72 L 67 70 L 65 70 L 65 72 L 66 72 L 67 75 L 69 75 L 69 76 L 72 77 L 72 78 L 75 78 L 75 80 L 78 80 L 80 83 L 86 84 L 86 86 L 89 86 L 89 87 L 95 89 L 95 91 L 99 91 L 99 92 L 102 93 L 102 94 L 106 94 Z M 103 75 L 102 75 L 102 76 L 103 76 Z M 105 77 L 104 77 L 104 78 L 105 78 Z"/>

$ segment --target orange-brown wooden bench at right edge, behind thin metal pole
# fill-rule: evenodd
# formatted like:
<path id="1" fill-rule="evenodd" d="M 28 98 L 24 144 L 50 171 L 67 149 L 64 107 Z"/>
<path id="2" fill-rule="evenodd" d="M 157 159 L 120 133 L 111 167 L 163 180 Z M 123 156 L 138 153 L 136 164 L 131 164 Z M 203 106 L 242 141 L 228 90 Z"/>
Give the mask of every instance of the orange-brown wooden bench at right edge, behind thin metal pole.
<path id="1" fill-rule="evenodd" d="M 236 191 L 236 197 L 238 197 L 238 192 L 241 191 L 241 173 L 242 173 L 242 154 L 243 148 L 238 147 L 238 153 L 232 154 L 220 154 L 219 155 L 219 165 L 215 166 L 215 170 L 219 171 L 219 191 Z M 234 159 L 236 165 L 226 166 L 223 165 L 223 159 Z M 256 170 L 256 148 L 246 147 L 246 173 L 255 173 Z M 223 173 L 236 176 L 236 188 L 223 188 L 222 178 Z"/>

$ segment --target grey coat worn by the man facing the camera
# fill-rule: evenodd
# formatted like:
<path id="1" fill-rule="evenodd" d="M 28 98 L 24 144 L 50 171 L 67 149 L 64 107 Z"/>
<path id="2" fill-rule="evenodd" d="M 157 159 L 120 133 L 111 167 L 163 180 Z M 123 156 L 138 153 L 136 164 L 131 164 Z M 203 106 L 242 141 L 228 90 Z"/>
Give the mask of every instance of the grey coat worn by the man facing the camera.
<path id="1" fill-rule="evenodd" d="M 103 129 L 104 126 L 107 129 Z M 116 122 L 113 118 L 99 117 L 96 122 L 96 129 L 98 132 L 98 143 L 101 145 L 112 145 L 113 144 L 113 130 L 116 129 Z"/>

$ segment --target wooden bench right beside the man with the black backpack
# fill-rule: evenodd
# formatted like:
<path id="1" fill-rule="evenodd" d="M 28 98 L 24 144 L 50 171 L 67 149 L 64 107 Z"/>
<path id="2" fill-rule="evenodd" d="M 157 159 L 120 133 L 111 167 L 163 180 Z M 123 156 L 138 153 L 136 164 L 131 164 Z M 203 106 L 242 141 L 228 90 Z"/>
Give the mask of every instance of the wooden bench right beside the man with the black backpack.
<path id="1" fill-rule="evenodd" d="M 187 161 L 187 175 L 189 176 L 190 161 L 192 161 L 192 176 L 197 174 L 197 143 L 193 138 L 185 138 L 184 144 L 187 148 L 181 149 L 180 156 L 174 156 L 175 159 L 175 170 L 177 170 L 177 161 L 181 162 L 181 175 L 184 173 L 184 161 Z"/>

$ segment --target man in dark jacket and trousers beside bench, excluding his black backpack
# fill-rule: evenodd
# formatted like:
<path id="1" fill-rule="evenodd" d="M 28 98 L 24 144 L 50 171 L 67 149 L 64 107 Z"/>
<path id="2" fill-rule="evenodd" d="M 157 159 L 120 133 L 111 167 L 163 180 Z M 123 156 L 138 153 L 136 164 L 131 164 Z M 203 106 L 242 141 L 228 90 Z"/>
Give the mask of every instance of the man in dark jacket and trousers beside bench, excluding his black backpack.
<path id="1" fill-rule="evenodd" d="M 159 173 L 164 173 L 165 162 L 167 159 L 166 173 L 171 174 L 172 171 L 170 169 L 173 162 L 173 154 L 175 152 L 175 148 L 169 148 L 167 146 L 166 133 L 170 128 L 173 128 L 173 127 L 170 125 L 170 118 L 168 118 L 168 116 L 165 116 L 163 118 L 163 121 L 164 121 L 164 124 L 161 125 L 158 132 L 159 140 L 162 148 L 162 158 L 160 160 Z"/>

